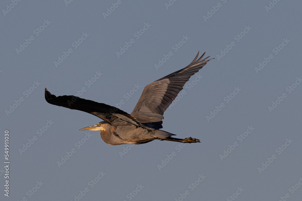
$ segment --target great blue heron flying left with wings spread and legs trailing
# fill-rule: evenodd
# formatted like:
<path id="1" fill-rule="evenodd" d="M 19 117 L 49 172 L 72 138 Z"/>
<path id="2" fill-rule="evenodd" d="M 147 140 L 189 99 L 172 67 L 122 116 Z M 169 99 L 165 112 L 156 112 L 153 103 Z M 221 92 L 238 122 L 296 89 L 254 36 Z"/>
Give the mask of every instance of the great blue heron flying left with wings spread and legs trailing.
<path id="1" fill-rule="evenodd" d="M 199 51 L 187 67 L 148 84 L 131 114 L 104 103 L 76 96 L 56 97 L 46 88 L 45 99 L 50 104 L 88 112 L 104 120 L 80 130 L 100 130 L 101 138 L 110 145 L 143 144 L 152 140 L 197 143 L 200 141 L 196 138 L 173 138 L 171 136 L 175 134 L 159 129 L 162 128 L 164 111 L 183 89 L 189 78 L 210 60 L 207 60 L 209 57 L 201 60 L 205 53 L 197 59 L 198 54 Z"/>

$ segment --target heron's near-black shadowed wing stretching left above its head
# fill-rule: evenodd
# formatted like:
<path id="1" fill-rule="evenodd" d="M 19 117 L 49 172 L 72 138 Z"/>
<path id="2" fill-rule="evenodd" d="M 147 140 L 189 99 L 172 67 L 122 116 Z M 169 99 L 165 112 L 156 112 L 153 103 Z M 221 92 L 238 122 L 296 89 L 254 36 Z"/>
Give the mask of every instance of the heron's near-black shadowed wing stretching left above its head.
<path id="1" fill-rule="evenodd" d="M 132 115 L 116 107 L 98 103 L 91 100 L 81 99 L 77 96 L 55 96 L 45 88 L 45 100 L 53 105 L 62 106 L 69 109 L 88 112 L 98 118 L 103 119 L 111 126 L 133 124 L 143 126 Z"/>

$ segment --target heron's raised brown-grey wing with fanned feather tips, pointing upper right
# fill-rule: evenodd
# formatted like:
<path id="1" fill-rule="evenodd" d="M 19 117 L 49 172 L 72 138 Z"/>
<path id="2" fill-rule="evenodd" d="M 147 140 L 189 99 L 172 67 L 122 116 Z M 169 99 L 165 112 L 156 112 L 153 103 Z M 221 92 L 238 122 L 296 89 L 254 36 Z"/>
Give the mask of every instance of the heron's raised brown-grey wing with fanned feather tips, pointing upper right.
<path id="1" fill-rule="evenodd" d="M 199 59 L 197 59 L 198 54 L 199 51 L 187 67 L 148 84 L 131 115 L 141 123 L 154 122 L 153 126 L 156 129 L 162 128 L 164 111 L 183 89 L 189 78 L 207 64 L 207 61 L 210 61 L 210 59 L 207 60 L 209 57 L 202 59 L 205 52 Z"/>

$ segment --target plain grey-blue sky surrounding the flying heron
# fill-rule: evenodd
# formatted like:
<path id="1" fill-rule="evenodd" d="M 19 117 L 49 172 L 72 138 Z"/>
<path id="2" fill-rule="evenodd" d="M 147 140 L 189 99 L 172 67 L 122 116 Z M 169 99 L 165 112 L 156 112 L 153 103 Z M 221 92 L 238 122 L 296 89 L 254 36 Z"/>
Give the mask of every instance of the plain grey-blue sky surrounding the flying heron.
<path id="1" fill-rule="evenodd" d="M 301 1 L 13 2 L 0 3 L 1 200 L 301 200 Z M 47 87 L 130 113 L 198 51 L 215 59 L 163 130 L 201 143 L 111 146 L 79 130 L 101 119 L 44 99 Z"/>

